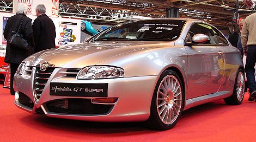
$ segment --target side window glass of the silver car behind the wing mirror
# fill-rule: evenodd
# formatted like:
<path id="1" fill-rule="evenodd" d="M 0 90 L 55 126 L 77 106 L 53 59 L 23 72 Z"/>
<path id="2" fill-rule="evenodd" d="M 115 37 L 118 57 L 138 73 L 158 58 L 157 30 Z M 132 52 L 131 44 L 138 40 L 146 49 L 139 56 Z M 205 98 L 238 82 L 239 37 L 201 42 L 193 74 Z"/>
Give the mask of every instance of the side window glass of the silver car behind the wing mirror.
<path id="1" fill-rule="evenodd" d="M 227 40 L 217 29 L 203 23 L 193 24 L 188 31 L 187 41 L 192 42 L 192 37 L 196 34 L 205 34 L 209 37 L 208 41 L 201 44 L 228 44 Z"/>

